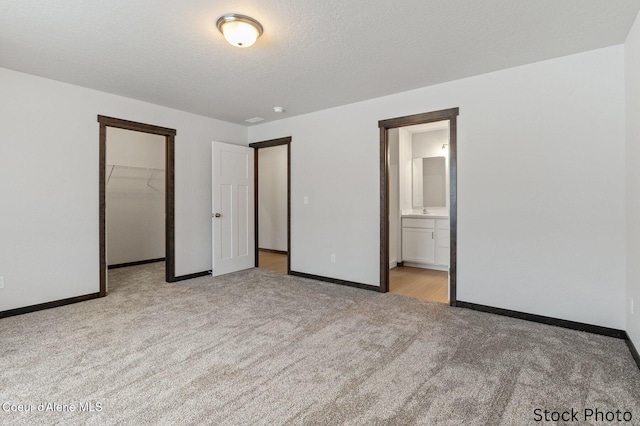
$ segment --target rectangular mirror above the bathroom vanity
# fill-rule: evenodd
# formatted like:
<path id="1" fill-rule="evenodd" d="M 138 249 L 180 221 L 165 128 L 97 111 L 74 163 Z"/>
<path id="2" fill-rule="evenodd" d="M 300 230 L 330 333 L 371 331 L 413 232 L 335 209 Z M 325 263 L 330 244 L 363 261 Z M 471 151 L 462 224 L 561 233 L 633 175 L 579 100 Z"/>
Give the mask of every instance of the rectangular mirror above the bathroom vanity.
<path id="1" fill-rule="evenodd" d="M 446 207 L 445 157 L 413 159 L 413 207 Z"/>

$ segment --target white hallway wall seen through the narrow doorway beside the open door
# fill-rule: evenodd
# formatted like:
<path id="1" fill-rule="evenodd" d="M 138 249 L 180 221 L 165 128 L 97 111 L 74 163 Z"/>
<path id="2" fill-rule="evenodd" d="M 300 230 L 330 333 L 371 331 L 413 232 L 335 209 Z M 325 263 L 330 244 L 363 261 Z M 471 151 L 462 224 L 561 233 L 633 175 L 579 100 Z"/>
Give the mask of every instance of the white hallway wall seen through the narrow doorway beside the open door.
<path id="1" fill-rule="evenodd" d="M 287 146 L 258 150 L 258 245 L 287 251 Z"/>

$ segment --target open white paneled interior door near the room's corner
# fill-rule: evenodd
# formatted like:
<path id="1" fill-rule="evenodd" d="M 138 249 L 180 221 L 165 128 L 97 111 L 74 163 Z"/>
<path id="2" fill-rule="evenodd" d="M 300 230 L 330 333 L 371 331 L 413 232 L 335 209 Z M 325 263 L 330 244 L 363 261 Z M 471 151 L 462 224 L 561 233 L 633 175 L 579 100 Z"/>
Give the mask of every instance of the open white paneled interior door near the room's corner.
<path id="1" fill-rule="evenodd" d="M 211 147 L 213 276 L 255 266 L 253 148 Z"/>

